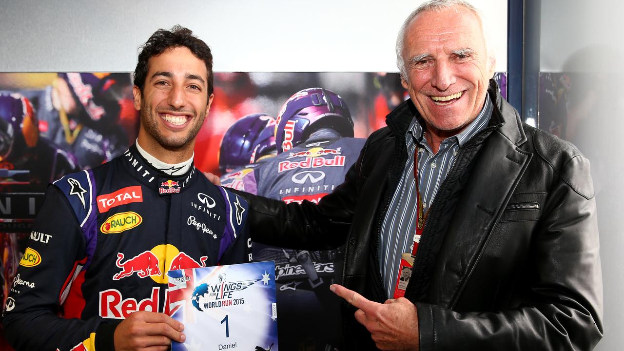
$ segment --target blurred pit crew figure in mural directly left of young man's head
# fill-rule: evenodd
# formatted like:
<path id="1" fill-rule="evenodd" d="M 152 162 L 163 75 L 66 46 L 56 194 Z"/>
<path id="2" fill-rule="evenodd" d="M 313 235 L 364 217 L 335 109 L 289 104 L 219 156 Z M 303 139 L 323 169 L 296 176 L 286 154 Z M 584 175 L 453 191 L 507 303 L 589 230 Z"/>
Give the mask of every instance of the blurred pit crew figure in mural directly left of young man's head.
<path id="1" fill-rule="evenodd" d="M 59 73 L 50 86 L 21 90 L 37 111 L 41 137 L 93 168 L 128 147 L 119 125 L 120 101 L 131 86 L 126 73 Z"/>

